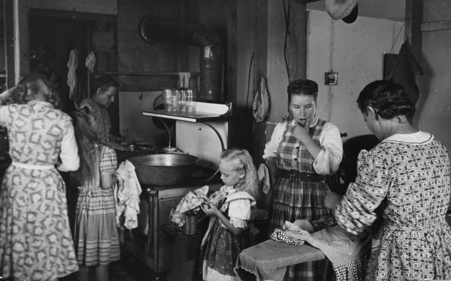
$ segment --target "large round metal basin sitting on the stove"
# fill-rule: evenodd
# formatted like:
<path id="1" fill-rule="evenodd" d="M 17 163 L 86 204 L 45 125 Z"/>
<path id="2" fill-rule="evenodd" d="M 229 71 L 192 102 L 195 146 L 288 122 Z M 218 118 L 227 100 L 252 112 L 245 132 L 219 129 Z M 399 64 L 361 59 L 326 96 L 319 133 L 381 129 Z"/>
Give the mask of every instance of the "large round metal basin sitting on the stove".
<path id="1" fill-rule="evenodd" d="M 128 160 L 135 165 L 140 183 L 172 185 L 183 183 L 191 177 L 197 157 L 189 154 L 151 154 Z"/>

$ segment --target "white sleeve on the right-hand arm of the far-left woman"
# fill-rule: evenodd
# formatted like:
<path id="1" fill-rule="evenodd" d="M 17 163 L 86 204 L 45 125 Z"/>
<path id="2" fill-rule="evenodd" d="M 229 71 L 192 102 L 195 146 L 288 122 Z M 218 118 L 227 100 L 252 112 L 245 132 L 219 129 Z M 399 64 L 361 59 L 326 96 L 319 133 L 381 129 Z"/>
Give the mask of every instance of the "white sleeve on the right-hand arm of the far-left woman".
<path id="1" fill-rule="evenodd" d="M 78 146 L 75 140 L 74 126 L 69 119 L 66 123 L 66 134 L 61 140 L 61 164 L 58 169 L 61 171 L 75 171 L 80 166 L 80 157 L 78 156 Z"/>

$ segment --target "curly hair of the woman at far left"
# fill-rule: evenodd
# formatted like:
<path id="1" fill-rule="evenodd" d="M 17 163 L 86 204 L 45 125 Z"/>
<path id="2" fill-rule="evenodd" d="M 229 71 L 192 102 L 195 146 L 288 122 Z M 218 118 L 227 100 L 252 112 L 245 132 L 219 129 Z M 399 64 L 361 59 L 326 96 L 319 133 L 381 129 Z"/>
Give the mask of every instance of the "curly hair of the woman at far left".
<path id="1" fill-rule="evenodd" d="M 22 78 L 14 88 L 11 99 L 14 103 L 27 103 L 36 99 L 40 94 L 56 108 L 60 105 L 60 98 L 55 86 L 46 76 L 39 72 L 32 72 Z"/>

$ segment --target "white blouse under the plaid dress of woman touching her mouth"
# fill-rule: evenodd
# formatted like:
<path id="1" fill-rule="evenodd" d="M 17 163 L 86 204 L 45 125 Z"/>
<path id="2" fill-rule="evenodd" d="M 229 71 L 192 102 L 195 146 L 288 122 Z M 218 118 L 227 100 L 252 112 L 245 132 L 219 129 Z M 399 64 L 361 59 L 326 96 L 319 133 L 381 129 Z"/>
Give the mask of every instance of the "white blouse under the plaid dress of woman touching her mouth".
<path id="1" fill-rule="evenodd" d="M 315 115 L 310 127 L 316 126 L 318 117 Z M 279 143 L 282 141 L 283 134 L 287 123 L 278 123 L 274 128 L 271 140 L 265 145 L 263 158 L 276 157 Z M 296 120 L 291 121 L 291 125 L 296 125 Z M 343 143 L 338 127 L 331 122 L 326 122 L 319 136 L 319 145 L 321 151 L 313 162 L 313 168 L 319 174 L 334 174 L 338 170 L 341 159 L 343 157 Z"/>

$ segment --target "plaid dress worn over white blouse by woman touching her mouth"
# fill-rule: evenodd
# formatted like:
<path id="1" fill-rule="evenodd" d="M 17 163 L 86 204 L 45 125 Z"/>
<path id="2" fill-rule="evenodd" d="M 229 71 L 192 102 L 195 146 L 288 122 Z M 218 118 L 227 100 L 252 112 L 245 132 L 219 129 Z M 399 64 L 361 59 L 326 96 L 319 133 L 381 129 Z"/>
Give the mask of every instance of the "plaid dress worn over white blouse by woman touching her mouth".
<path id="1" fill-rule="evenodd" d="M 310 128 L 310 136 L 318 144 L 326 122 L 318 119 L 317 125 Z M 277 150 L 279 168 L 316 173 L 313 169 L 314 158 L 304 144 L 294 137 L 293 131 L 292 123 L 288 122 Z M 271 234 L 275 228 L 282 228 L 286 220 L 316 220 L 321 216 L 331 215 L 331 211 L 323 203 L 324 195 L 328 191 L 329 187 L 325 182 L 292 182 L 288 178 L 279 177 L 273 191 L 268 233 Z M 299 263 L 289 266 L 284 280 L 319 280 L 326 268 L 327 260 Z"/>

